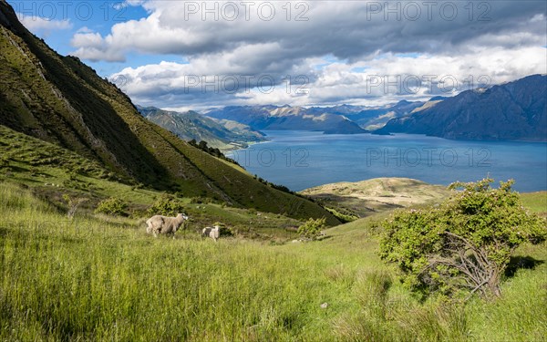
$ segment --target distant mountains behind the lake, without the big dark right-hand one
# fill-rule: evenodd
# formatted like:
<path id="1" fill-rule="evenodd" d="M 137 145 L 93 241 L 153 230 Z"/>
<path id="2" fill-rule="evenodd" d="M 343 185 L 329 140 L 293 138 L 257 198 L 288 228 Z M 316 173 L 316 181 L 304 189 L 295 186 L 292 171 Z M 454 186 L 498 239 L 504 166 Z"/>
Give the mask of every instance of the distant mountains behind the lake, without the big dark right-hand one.
<path id="1" fill-rule="evenodd" d="M 325 134 L 366 133 L 422 107 L 425 102 L 399 101 L 384 106 L 334 107 L 232 106 L 196 111 L 170 111 L 137 106 L 150 121 L 183 140 L 207 141 L 221 150 L 245 148 L 265 140 L 260 130 L 318 130 Z"/>

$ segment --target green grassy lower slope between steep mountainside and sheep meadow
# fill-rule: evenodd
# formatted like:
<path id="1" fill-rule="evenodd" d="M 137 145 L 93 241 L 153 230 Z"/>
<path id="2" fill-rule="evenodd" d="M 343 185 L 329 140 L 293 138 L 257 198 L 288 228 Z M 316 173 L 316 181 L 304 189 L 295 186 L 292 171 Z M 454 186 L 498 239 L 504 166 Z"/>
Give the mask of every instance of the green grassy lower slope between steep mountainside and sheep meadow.
<path id="1" fill-rule="evenodd" d="M 116 197 L 129 204 L 126 211 L 129 216 L 142 219 L 148 216 L 146 211 L 151 204 L 165 197 L 164 192 L 135 185 L 96 161 L 3 126 L 0 126 L 0 156 L 0 181 L 20 184 L 61 211 L 67 210 L 64 194 L 86 199 L 79 208 L 85 213 L 93 212 L 98 202 Z M 280 214 L 201 203 L 204 199 L 199 197 L 179 195 L 178 200 L 192 218 L 187 223 L 191 232 L 222 222 L 240 235 L 274 242 L 294 238 L 294 228 L 302 224 Z"/>

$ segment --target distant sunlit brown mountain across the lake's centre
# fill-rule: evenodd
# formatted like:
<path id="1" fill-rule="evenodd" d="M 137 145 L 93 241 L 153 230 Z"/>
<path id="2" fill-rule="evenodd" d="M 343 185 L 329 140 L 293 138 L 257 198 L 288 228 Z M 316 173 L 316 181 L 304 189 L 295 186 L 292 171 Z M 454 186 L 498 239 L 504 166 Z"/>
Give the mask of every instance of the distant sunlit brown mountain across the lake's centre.
<path id="1" fill-rule="evenodd" d="M 318 130 L 325 134 L 365 133 L 350 119 L 328 109 L 305 109 L 291 106 L 236 106 L 212 109 L 205 113 L 215 119 L 229 119 L 253 130 Z"/>

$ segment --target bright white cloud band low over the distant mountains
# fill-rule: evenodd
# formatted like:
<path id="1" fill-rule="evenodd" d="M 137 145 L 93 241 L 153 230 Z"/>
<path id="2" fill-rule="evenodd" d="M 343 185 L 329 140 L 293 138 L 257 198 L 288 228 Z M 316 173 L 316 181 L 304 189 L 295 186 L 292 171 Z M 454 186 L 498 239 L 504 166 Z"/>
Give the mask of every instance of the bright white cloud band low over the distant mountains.
<path id="1" fill-rule="evenodd" d="M 229 60 L 229 57 L 222 58 L 222 61 Z M 231 70 L 225 67 L 228 62 L 214 68 L 211 60 L 199 58 L 191 60 L 190 64 L 162 62 L 128 67 L 117 76 L 127 78 L 123 89 L 136 102 L 170 108 L 188 106 L 189 103 L 194 108 L 265 103 L 378 105 L 400 99 L 452 96 L 484 84 L 499 84 L 534 73 L 544 74 L 547 73 L 545 60 L 547 49 L 544 47 L 514 51 L 493 47 L 458 56 L 385 54 L 371 61 L 354 64 L 339 61 L 315 71 L 291 75 L 293 81 L 299 75 L 305 75 L 308 79 L 305 84 L 290 84 L 274 78 L 275 74 L 271 78 L 263 74 L 265 82 L 262 87 L 257 84 L 259 76 L 249 79 L 252 88 L 243 87 L 241 74 L 228 73 Z M 302 65 L 323 65 L 325 62 L 315 58 L 303 60 Z M 209 67 L 212 67 L 210 72 L 207 71 Z M 366 67 L 366 71 L 354 71 L 360 67 Z M 226 73 L 212 72 L 219 70 Z M 239 82 L 239 91 L 232 91 L 229 81 L 233 79 Z M 272 84 L 269 79 L 279 83 Z"/>

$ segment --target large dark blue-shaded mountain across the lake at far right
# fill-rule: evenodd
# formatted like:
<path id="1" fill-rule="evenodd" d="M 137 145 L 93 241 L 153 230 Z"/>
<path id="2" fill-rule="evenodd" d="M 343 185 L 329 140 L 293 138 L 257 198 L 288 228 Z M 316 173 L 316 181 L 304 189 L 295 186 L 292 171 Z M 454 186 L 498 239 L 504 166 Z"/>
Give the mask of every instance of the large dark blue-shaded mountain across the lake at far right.
<path id="1" fill-rule="evenodd" d="M 547 141 L 547 76 L 468 90 L 391 119 L 377 134 L 414 133 L 461 140 Z M 431 101 L 435 102 L 435 101 Z"/>

